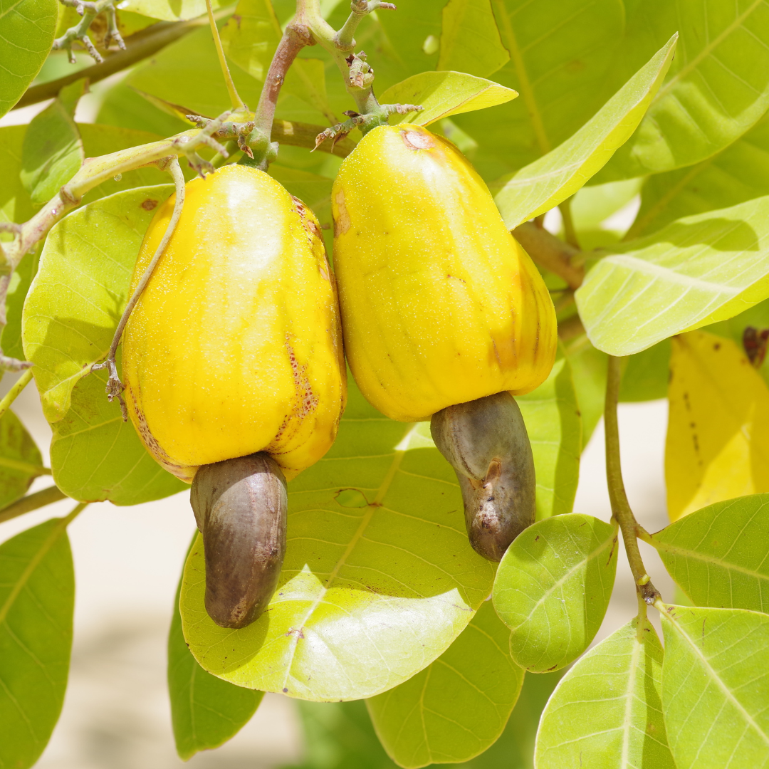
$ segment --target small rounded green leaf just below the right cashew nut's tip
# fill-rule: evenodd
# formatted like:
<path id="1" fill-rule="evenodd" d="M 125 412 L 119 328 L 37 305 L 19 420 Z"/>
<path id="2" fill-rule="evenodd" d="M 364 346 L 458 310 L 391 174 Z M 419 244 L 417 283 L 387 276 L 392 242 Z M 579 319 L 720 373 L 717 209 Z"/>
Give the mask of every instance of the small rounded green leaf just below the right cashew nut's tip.
<path id="1" fill-rule="evenodd" d="M 510 654 L 534 673 L 574 661 L 601 627 L 617 570 L 617 528 L 571 513 L 518 534 L 494 580 Z"/>

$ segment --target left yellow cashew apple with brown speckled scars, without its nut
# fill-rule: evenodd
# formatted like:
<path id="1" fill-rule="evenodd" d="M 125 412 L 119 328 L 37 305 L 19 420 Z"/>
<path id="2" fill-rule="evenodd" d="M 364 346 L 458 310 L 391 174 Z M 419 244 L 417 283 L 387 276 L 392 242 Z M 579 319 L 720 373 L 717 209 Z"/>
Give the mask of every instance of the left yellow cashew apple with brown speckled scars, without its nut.
<path id="1" fill-rule="evenodd" d="M 131 290 L 173 204 L 148 228 Z M 183 481 L 203 464 L 257 451 L 289 480 L 318 461 L 336 436 L 347 383 L 315 216 L 255 168 L 228 165 L 190 181 L 122 353 L 131 420 Z"/>

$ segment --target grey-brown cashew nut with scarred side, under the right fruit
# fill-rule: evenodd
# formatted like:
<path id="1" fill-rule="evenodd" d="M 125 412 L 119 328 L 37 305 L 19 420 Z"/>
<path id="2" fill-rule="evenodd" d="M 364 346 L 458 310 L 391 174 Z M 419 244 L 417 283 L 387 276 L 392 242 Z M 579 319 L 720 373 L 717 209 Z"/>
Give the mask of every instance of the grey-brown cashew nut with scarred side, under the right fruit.
<path id="1" fill-rule="evenodd" d="M 474 551 L 501 561 L 537 515 L 534 456 L 521 409 L 508 392 L 433 414 L 435 445 L 457 474 Z"/>

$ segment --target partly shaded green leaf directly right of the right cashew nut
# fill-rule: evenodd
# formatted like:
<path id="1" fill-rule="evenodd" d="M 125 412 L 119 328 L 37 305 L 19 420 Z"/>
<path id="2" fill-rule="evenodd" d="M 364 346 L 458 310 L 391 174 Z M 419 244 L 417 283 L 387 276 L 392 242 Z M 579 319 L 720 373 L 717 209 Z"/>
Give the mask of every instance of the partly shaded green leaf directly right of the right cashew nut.
<path id="1" fill-rule="evenodd" d="M 571 513 L 579 481 L 582 424 L 571 366 L 559 358 L 536 390 L 515 398 L 537 474 L 537 518 Z"/>

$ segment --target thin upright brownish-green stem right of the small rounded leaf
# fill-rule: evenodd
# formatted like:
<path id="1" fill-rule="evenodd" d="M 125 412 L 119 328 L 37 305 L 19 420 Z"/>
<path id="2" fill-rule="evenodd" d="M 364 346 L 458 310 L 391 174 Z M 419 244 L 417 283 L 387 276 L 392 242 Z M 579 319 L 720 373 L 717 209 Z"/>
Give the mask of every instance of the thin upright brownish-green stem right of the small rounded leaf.
<path id="1" fill-rule="evenodd" d="M 604 428 L 606 430 L 606 482 L 611 501 L 611 516 L 622 531 L 625 551 L 628 553 L 635 589 L 640 600 L 654 604 L 660 598 L 657 588 L 651 584 L 641 551 L 638 549 L 638 534 L 641 526 L 635 520 L 628 494 L 625 493 L 620 461 L 620 432 L 617 419 L 620 383 L 622 379 L 621 359 L 608 356 L 608 376 L 606 380 L 606 407 L 604 410 Z"/>

